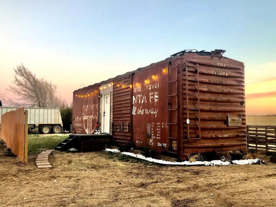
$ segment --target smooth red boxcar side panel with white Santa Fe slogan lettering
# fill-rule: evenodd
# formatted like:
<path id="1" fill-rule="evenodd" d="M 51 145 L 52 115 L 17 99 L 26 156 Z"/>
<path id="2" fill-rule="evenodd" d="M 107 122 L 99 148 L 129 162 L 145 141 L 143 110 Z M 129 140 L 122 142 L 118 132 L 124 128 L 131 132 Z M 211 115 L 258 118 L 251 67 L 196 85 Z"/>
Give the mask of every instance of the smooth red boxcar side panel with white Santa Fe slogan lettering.
<path id="1" fill-rule="evenodd" d="M 168 150 L 167 62 L 133 75 L 133 142 L 155 151 Z"/>

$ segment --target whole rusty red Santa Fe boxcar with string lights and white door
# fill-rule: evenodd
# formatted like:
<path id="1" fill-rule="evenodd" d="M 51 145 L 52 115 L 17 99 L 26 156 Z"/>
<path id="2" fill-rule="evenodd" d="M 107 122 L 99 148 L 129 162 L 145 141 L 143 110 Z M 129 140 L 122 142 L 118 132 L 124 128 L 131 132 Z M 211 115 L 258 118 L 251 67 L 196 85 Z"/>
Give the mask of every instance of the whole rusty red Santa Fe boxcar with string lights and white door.
<path id="1" fill-rule="evenodd" d="M 193 153 L 246 152 L 244 64 L 184 50 L 73 93 L 73 133 L 112 135 L 181 160 Z M 98 123 L 98 124 L 97 124 Z"/>

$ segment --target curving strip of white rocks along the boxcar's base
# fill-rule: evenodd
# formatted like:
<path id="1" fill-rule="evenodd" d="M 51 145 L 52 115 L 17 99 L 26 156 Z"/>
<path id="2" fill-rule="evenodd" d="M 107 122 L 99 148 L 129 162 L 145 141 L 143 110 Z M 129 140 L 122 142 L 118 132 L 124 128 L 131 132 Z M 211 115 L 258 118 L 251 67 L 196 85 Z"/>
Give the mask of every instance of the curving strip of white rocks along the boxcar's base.
<path id="1" fill-rule="evenodd" d="M 189 166 L 215 166 L 215 165 L 231 165 L 233 164 L 264 164 L 264 161 L 260 160 L 260 159 L 248 159 L 248 160 L 233 160 L 231 162 L 226 161 L 223 162 L 221 160 L 212 160 L 212 161 L 196 161 L 196 162 L 190 162 L 190 161 L 183 161 L 183 162 L 171 162 L 171 161 L 165 161 L 165 160 L 158 160 L 155 158 L 150 158 L 150 157 L 145 157 L 141 154 L 134 154 L 132 152 L 120 152 L 120 150 L 117 149 L 106 149 L 106 152 L 114 152 L 114 153 L 120 153 L 123 155 L 127 155 L 127 156 L 131 156 L 131 157 L 135 157 L 141 160 L 145 160 L 148 162 L 154 162 L 154 163 L 158 163 L 158 164 L 169 164 L 169 165 L 189 165 Z"/>

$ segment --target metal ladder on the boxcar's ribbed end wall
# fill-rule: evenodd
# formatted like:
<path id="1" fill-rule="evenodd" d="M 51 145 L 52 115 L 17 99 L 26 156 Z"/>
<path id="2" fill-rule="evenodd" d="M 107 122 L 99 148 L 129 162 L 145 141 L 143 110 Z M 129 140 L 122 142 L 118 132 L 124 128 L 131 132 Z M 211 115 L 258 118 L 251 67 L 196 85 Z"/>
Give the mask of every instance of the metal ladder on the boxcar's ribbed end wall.
<path id="1" fill-rule="evenodd" d="M 196 79 L 188 78 L 189 69 L 196 70 Z M 187 110 L 187 119 L 189 119 L 189 111 L 196 111 L 198 112 L 198 122 L 197 123 L 187 123 L 187 138 L 190 139 L 201 139 L 200 135 L 200 100 L 199 100 L 199 72 L 198 72 L 198 64 L 196 66 L 193 65 L 186 65 L 186 110 Z M 197 82 L 198 83 L 198 93 L 189 93 L 189 83 L 188 82 Z M 189 108 L 189 96 L 197 96 L 198 97 L 198 108 Z M 196 104 L 195 104 L 196 105 Z M 190 125 L 197 125 L 199 130 L 199 135 L 197 137 L 190 138 Z"/>

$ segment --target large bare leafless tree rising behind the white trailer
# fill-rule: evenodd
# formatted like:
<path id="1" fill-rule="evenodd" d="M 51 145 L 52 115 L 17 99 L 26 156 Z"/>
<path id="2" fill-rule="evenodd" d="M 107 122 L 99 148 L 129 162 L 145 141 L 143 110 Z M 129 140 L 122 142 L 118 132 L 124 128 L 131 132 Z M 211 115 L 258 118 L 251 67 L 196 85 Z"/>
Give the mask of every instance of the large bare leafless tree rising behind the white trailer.
<path id="1" fill-rule="evenodd" d="M 59 107 L 61 97 L 57 97 L 57 86 L 44 78 L 37 78 L 23 64 L 14 68 L 15 76 L 13 86 L 8 91 L 16 95 L 16 99 L 9 99 L 14 106 L 30 107 Z"/>

